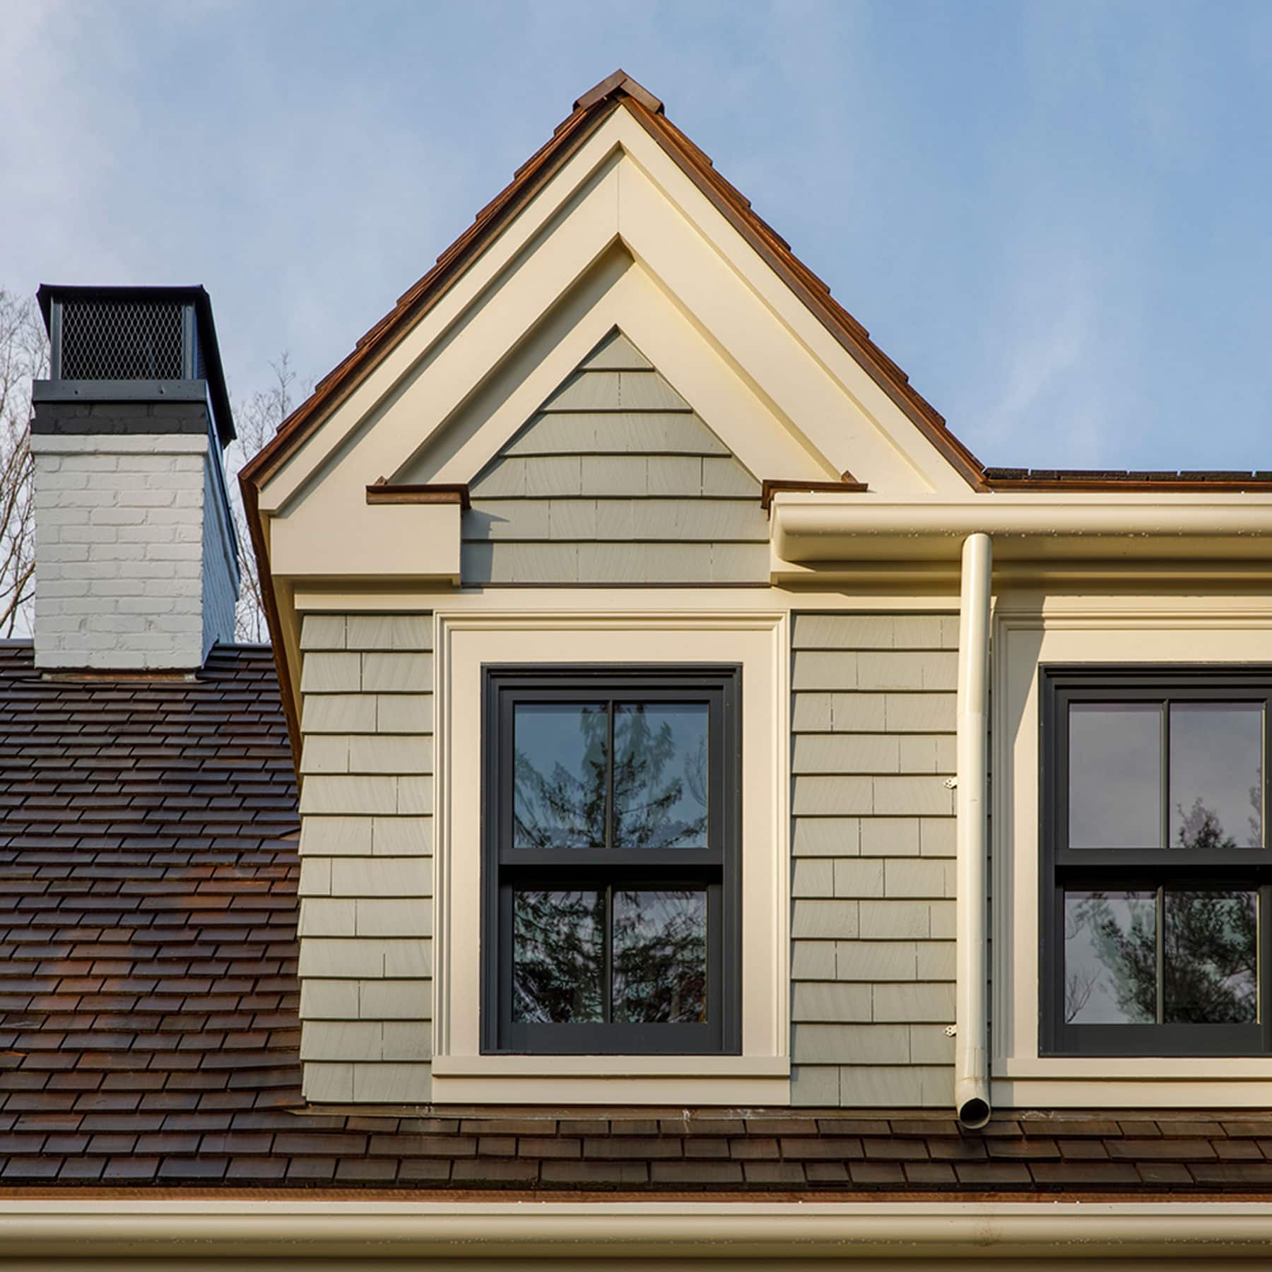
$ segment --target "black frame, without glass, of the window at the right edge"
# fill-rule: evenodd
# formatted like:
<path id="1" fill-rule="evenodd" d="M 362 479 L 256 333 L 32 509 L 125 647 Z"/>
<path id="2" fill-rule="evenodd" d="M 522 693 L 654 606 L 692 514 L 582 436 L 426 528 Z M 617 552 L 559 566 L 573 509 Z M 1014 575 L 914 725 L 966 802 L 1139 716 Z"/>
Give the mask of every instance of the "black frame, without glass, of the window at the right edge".
<path id="1" fill-rule="evenodd" d="M 1272 1051 L 1272 667 L 1243 664 L 1082 664 L 1042 667 L 1039 711 L 1039 1054 L 1217 1057 Z M 1072 702 L 1161 702 L 1161 846 L 1068 847 L 1068 706 Z M 1263 706 L 1263 847 L 1172 848 L 1170 703 L 1259 702 Z M 1258 906 L 1258 1011 L 1249 1024 L 1068 1024 L 1065 1010 L 1067 890 L 1156 893 L 1158 977 L 1163 959 L 1163 897 L 1166 889 L 1254 892 Z M 1160 991 L 1159 991 L 1160 993 Z"/>

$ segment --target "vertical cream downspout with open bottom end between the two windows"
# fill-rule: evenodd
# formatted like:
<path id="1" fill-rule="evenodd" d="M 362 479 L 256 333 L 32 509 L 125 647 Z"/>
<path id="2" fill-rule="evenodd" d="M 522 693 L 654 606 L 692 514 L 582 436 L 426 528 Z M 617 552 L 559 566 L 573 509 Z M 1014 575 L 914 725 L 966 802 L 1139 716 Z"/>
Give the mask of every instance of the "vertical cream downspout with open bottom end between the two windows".
<path id="1" fill-rule="evenodd" d="M 954 1108 L 971 1128 L 990 1119 L 988 962 L 986 888 L 988 856 L 990 577 L 988 534 L 963 541 L 958 625 L 958 813 Z"/>

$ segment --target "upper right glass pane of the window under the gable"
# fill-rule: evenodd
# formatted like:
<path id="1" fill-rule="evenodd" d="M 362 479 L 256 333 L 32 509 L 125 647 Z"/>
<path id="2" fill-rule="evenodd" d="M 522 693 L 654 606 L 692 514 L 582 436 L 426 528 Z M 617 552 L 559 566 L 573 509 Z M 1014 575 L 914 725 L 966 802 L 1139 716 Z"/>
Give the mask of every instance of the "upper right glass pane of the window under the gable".
<path id="1" fill-rule="evenodd" d="M 707 843 L 707 705 L 614 707 L 614 845 Z"/>

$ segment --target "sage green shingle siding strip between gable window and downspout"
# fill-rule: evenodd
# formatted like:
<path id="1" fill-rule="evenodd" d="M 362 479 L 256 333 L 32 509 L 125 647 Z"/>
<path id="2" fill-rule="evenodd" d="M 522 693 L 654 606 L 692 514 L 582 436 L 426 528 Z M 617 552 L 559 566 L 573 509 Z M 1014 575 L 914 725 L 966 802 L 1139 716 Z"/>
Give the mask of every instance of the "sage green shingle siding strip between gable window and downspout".
<path id="1" fill-rule="evenodd" d="M 946 1105 L 954 614 L 795 616 L 796 1104 Z"/>

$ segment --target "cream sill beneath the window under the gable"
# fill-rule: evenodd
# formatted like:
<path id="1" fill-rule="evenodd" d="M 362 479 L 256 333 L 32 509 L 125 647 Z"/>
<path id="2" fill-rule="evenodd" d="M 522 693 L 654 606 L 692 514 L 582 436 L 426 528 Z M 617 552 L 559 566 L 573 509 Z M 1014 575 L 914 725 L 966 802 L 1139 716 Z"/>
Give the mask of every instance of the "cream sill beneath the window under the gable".
<path id="1" fill-rule="evenodd" d="M 790 1103 L 790 1060 L 773 1056 L 436 1056 L 436 1104 Z"/>

